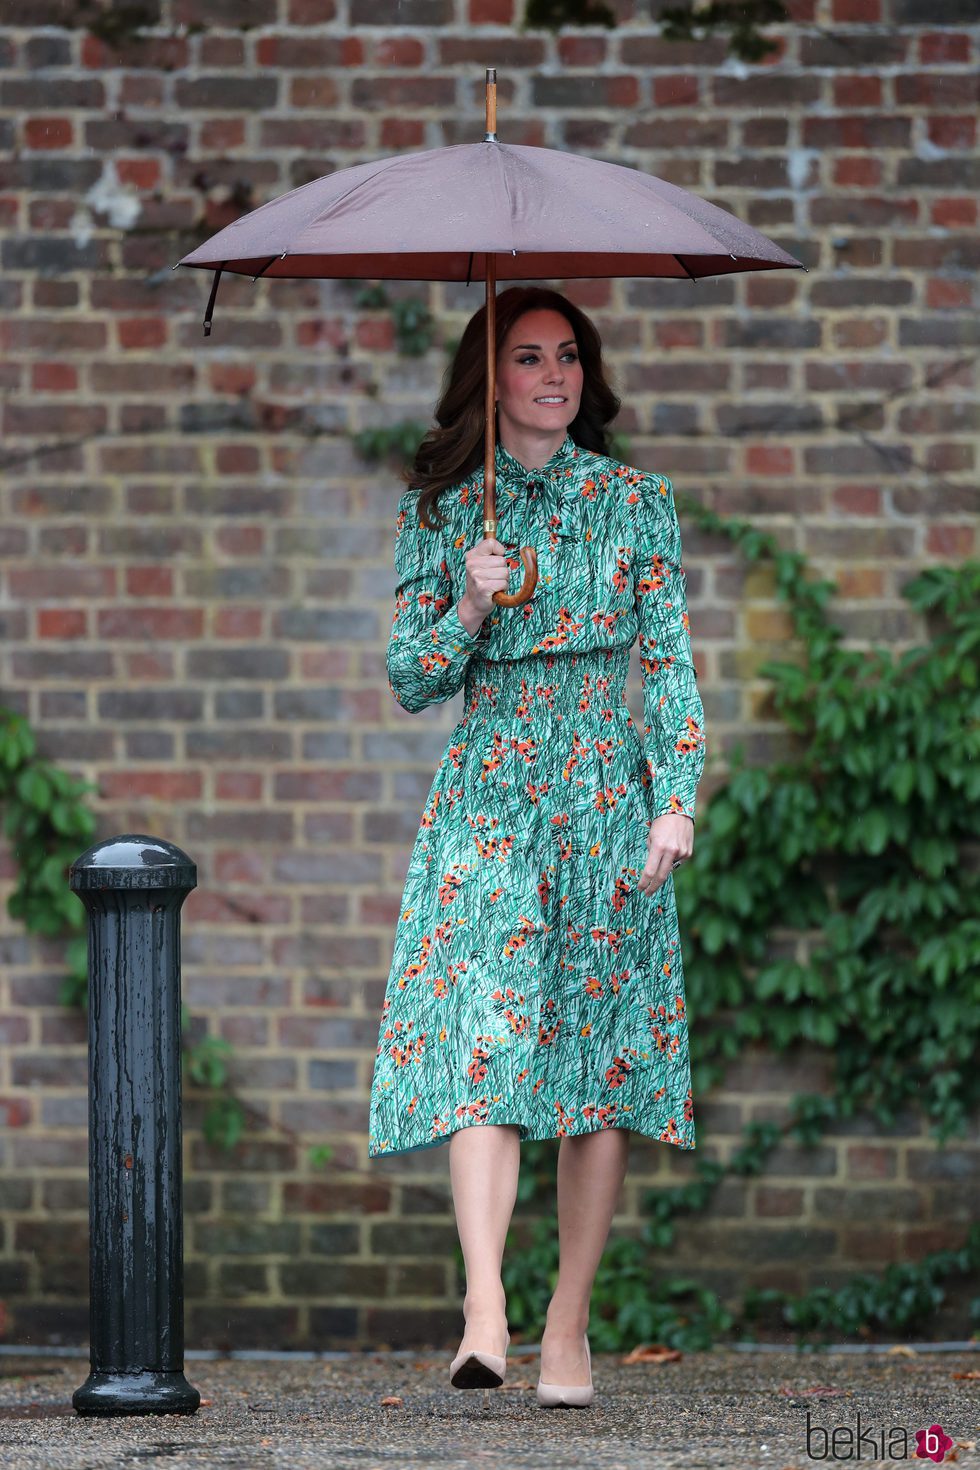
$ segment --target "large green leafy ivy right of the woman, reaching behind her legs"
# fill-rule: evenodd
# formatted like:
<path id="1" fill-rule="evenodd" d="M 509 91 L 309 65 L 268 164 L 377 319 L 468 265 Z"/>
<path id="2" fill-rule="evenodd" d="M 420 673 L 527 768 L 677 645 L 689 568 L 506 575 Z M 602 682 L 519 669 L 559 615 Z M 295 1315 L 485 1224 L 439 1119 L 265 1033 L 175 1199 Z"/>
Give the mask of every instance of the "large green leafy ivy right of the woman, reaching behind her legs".
<path id="1" fill-rule="evenodd" d="M 896 1107 L 912 1105 L 939 1147 L 976 1127 L 980 875 L 970 857 L 980 795 L 980 563 L 930 567 L 905 585 L 907 601 L 932 623 L 927 644 L 858 651 L 842 647 L 842 629 L 827 619 L 836 585 L 813 578 L 804 557 L 696 503 L 682 520 L 727 535 L 746 560 L 770 567 L 795 635 L 792 660 L 757 670 L 771 681 L 795 748 L 782 761 L 746 766 L 736 747 L 676 879 L 695 1092 L 721 1082 L 726 1061 L 752 1042 L 789 1055 L 826 1051 L 833 1088 L 793 1097 L 782 1125 L 746 1126 L 727 1164 L 695 1152 L 693 1180 L 646 1195 L 639 1238 L 607 1245 L 591 1341 L 605 1351 L 638 1339 L 698 1349 L 726 1332 L 755 1341 L 764 1317 L 793 1329 L 799 1347 L 921 1329 L 945 1301 L 943 1282 L 980 1267 L 980 1225 L 956 1251 L 857 1274 L 839 1291 L 749 1291 L 738 1314 L 657 1266 L 679 1216 L 704 1211 L 724 1179 L 761 1173 L 786 1138 L 813 1148 L 860 1108 L 892 1125 Z M 808 936 L 805 956 L 770 953 L 773 931 Z M 554 1144 L 523 1145 L 526 1219 L 513 1222 L 519 1247 L 504 1258 L 517 1330 L 539 1330 L 558 1276 L 554 1163 Z M 461 1272 L 458 1251 L 457 1263 Z M 971 1322 L 980 1332 L 980 1298 Z"/>

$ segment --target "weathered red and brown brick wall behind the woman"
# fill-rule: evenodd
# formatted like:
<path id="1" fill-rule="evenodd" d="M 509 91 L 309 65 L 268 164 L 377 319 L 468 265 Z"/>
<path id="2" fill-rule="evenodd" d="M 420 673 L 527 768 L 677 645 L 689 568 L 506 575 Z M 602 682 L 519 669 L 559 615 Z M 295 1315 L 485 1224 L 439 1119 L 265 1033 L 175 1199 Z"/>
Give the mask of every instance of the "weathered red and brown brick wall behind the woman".
<path id="1" fill-rule="evenodd" d="M 0 29 L 4 479 L 0 703 L 98 784 L 100 835 L 182 845 L 184 995 L 235 1044 L 250 1110 L 229 1160 L 187 1133 L 192 1345 L 453 1341 L 445 1151 L 366 1158 L 367 1083 L 401 881 L 450 706 L 385 681 L 398 484 L 350 435 L 428 422 L 444 354 L 403 357 L 350 282 L 170 266 L 242 210 L 335 168 L 498 135 L 610 157 L 732 209 L 810 266 L 582 281 L 636 463 L 752 516 L 839 579 L 858 642 L 917 641 L 921 566 L 977 553 L 977 43 L 968 3 L 799 0 L 779 53 L 519 29 L 511 0 L 160 0 L 118 49 L 57 0 Z M 483 288 L 391 284 L 454 338 Z M 685 532 L 713 757 L 782 748 L 760 717 L 785 620 L 721 537 Z M 632 703 L 638 711 L 638 666 Z M 12 854 L 3 850 L 3 894 Z M 683 922 L 683 916 L 682 916 Z M 85 1341 L 85 1032 L 62 948 L 0 913 L 0 1298 L 16 1341 Z M 689 1004 L 698 1013 L 698 978 Z M 820 1085 L 821 1058 L 811 1063 Z M 764 1055 L 698 1092 L 727 1157 L 801 1086 Z M 331 1144 L 328 1169 L 309 1150 Z M 702 1155 L 704 1157 L 704 1155 Z M 614 1230 L 691 1157 L 636 1139 Z M 976 1152 L 914 1114 L 855 1120 L 726 1185 L 671 1269 L 726 1294 L 845 1280 L 961 1242 Z M 705 1261 L 710 1264 L 705 1266 Z M 967 1330 L 968 1294 L 936 1323 Z"/>

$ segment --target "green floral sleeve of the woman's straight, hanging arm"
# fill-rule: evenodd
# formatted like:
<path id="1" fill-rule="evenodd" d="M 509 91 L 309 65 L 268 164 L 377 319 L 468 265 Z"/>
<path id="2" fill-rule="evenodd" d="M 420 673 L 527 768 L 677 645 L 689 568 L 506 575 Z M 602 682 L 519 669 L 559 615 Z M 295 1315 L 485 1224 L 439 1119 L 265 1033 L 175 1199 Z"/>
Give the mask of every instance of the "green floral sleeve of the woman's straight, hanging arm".
<path id="1" fill-rule="evenodd" d="M 636 609 L 644 682 L 644 751 L 654 817 L 695 817 L 704 769 L 704 709 L 691 653 L 686 575 L 673 487 L 649 475 L 636 504 Z"/>

